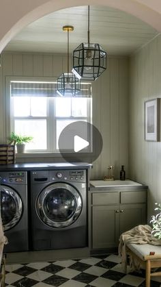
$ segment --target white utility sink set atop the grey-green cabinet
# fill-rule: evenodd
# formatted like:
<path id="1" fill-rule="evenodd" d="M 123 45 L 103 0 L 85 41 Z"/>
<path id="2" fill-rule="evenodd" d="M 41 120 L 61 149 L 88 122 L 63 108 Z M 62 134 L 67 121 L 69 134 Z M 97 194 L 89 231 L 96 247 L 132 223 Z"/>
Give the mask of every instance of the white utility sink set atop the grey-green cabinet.
<path id="1" fill-rule="evenodd" d="M 91 180 L 90 181 L 91 186 L 95 188 L 101 188 L 101 187 L 108 187 L 108 186 L 142 186 L 142 184 L 139 184 L 138 182 L 133 182 L 130 179 L 126 180 Z"/>

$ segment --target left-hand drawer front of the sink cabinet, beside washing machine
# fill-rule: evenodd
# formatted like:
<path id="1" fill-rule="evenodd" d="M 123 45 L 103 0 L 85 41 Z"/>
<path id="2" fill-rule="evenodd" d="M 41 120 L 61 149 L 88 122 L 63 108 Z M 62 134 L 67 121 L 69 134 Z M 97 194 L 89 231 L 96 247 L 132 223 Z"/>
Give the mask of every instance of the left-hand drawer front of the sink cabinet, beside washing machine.
<path id="1" fill-rule="evenodd" d="M 119 203 L 119 192 L 98 192 L 92 194 L 92 204 L 115 204 Z"/>

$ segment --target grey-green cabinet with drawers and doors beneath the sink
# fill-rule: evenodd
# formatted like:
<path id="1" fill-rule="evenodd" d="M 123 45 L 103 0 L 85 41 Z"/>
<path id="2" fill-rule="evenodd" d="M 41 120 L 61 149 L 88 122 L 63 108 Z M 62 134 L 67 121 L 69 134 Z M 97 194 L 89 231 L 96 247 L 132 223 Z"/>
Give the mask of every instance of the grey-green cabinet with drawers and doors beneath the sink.
<path id="1" fill-rule="evenodd" d="M 91 247 L 117 247 L 119 236 L 147 223 L 147 191 L 91 192 Z"/>

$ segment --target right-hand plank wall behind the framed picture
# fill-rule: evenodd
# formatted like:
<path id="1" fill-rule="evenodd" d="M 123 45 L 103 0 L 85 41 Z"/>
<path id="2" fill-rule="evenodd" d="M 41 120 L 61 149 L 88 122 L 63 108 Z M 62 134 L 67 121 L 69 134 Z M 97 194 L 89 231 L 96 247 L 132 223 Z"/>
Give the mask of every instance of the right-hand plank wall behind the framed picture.
<path id="1" fill-rule="evenodd" d="M 145 141 L 145 101 L 161 97 L 161 36 L 130 59 L 130 177 L 149 186 L 148 223 L 161 203 L 161 142 Z"/>

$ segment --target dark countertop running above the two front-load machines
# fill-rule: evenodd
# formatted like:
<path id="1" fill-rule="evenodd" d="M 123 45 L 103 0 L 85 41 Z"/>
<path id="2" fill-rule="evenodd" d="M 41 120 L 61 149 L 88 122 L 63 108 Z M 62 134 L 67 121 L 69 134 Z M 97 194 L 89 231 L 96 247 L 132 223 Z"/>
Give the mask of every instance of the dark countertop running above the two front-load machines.
<path id="1" fill-rule="evenodd" d="M 0 171 L 37 171 L 37 170 L 61 170 L 61 169 L 91 169 L 92 164 L 87 162 L 33 162 L 25 164 L 3 164 L 0 165 Z"/>

